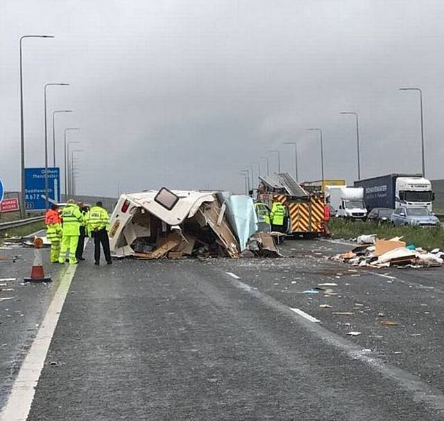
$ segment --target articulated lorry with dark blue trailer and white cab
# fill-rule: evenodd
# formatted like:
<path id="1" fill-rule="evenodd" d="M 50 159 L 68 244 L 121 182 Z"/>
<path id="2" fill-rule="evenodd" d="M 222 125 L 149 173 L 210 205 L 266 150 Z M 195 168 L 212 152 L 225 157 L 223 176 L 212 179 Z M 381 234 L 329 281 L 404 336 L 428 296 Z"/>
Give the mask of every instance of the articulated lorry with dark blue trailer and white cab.
<path id="1" fill-rule="evenodd" d="M 432 211 L 435 199 L 432 183 L 421 174 L 388 174 L 358 180 L 355 187 L 364 188 L 364 202 L 373 208 L 407 208 L 422 206 Z"/>

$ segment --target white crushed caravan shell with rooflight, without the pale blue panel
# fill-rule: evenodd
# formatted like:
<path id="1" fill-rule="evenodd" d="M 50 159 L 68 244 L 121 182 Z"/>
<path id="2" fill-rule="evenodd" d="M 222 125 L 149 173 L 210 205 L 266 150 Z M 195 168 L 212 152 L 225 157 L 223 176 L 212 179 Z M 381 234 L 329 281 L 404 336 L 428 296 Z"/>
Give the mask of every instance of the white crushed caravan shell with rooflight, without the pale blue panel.
<path id="1" fill-rule="evenodd" d="M 161 189 L 122 195 L 111 216 L 110 247 L 117 256 L 239 257 L 215 193 Z"/>

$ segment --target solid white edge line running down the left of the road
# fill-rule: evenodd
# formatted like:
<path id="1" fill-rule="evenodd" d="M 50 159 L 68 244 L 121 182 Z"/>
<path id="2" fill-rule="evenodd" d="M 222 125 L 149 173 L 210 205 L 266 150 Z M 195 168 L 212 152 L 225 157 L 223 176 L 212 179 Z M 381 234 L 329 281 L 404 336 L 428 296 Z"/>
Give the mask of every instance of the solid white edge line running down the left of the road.
<path id="1" fill-rule="evenodd" d="M 40 325 L 33 345 L 31 345 L 31 349 L 24 359 L 17 379 L 15 379 L 12 385 L 8 402 L 0 413 L 1 421 L 26 421 L 26 418 L 28 418 L 28 413 L 34 399 L 35 388 L 42 373 L 46 354 L 48 353 L 51 339 L 56 330 L 58 318 L 65 303 L 69 286 L 71 286 L 71 281 L 76 273 L 76 268 L 76 265 L 69 265 L 65 274 L 62 276 L 60 285 L 49 305 L 48 311 L 46 311 L 46 315 Z"/>

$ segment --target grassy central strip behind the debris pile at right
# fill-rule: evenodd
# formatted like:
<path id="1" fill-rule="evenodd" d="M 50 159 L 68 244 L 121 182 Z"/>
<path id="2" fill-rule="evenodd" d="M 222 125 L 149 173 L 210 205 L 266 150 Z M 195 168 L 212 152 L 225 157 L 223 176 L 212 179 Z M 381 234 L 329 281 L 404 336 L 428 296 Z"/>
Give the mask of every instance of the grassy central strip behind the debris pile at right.
<path id="1" fill-rule="evenodd" d="M 377 225 L 374 222 L 350 221 L 332 218 L 328 223 L 333 238 L 357 238 L 362 234 L 376 234 L 377 238 L 403 237 L 402 240 L 423 249 L 444 250 L 444 230 L 440 228 L 420 228 L 419 226 Z"/>

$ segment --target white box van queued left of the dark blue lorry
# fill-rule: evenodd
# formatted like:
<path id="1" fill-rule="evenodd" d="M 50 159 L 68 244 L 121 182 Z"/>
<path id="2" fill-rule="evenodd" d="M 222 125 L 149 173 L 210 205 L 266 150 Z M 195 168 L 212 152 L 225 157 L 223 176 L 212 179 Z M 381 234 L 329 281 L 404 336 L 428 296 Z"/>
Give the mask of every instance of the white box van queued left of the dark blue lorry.
<path id="1" fill-rule="evenodd" d="M 367 209 L 364 204 L 364 189 L 346 185 L 326 185 L 325 199 L 330 212 L 336 217 L 364 219 Z"/>

